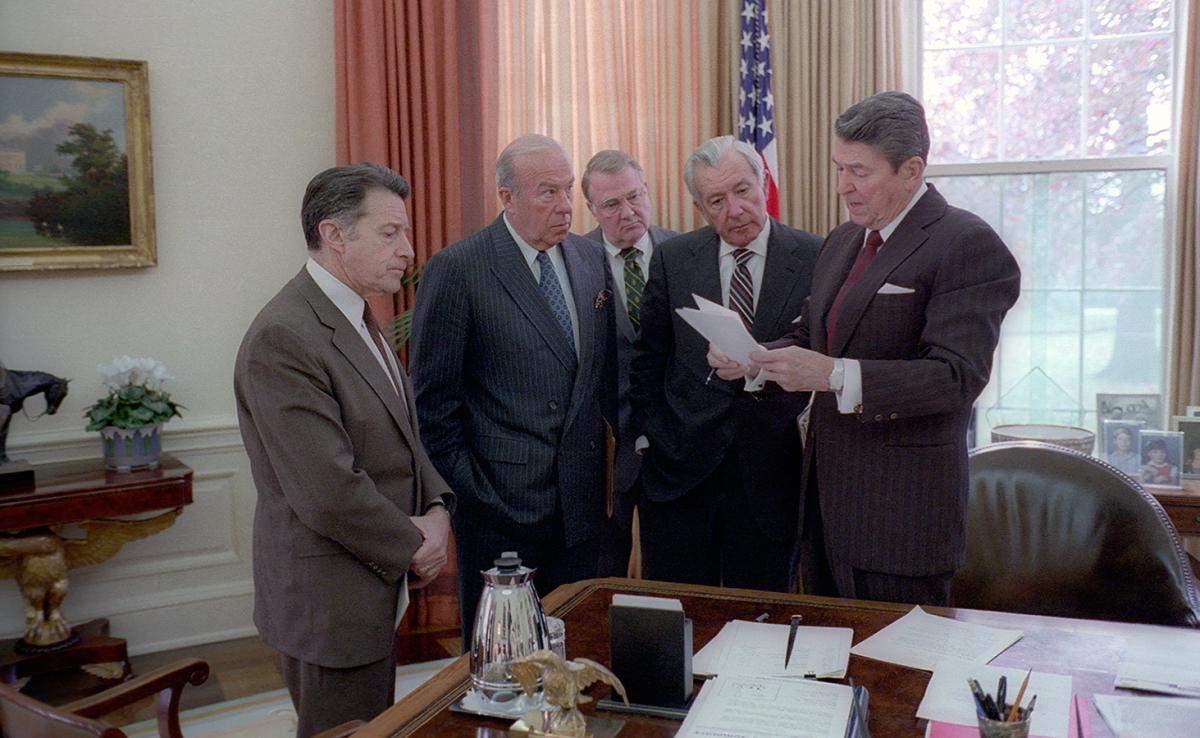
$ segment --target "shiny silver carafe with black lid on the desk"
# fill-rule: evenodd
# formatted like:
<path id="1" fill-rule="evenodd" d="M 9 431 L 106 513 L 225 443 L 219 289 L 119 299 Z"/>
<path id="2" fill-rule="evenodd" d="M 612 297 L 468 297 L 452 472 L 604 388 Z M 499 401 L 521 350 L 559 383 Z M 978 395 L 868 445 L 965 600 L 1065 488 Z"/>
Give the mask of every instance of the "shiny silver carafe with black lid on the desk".
<path id="1" fill-rule="evenodd" d="M 470 642 L 470 682 L 480 697 L 494 704 L 514 702 L 522 695 L 512 676 L 512 661 L 550 648 L 546 616 L 533 586 L 534 571 L 521 565 L 515 551 L 505 551 L 496 566 L 480 572 L 484 593 Z"/>

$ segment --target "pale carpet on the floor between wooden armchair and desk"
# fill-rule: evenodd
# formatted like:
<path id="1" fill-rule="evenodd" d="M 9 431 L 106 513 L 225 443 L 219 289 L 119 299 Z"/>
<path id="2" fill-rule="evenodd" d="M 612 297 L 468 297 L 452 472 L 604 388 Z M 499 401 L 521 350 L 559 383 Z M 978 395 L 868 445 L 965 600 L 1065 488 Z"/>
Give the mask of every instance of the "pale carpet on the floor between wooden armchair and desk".
<path id="1" fill-rule="evenodd" d="M 454 659 L 409 664 L 396 668 L 396 698 L 425 683 Z M 293 738 L 296 715 L 284 689 L 198 707 L 180 715 L 187 738 Z M 154 720 L 126 726 L 130 738 L 157 738 Z"/>

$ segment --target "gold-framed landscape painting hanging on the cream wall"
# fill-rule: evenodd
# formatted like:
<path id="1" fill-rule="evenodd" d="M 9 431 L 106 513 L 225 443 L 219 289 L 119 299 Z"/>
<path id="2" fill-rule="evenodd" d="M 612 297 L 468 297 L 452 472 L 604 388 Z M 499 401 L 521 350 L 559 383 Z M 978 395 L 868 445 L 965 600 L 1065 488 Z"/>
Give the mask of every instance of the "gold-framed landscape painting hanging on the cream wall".
<path id="1" fill-rule="evenodd" d="M 0 52 L 0 271 L 155 263 L 146 62 Z"/>

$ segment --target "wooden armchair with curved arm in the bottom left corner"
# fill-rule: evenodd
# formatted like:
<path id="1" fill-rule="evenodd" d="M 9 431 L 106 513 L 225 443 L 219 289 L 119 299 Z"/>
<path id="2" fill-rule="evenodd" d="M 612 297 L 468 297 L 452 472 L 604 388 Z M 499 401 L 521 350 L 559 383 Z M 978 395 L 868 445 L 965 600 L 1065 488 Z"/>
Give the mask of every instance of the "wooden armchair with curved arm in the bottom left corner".
<path id="1" fill-rule="evenodd" d="M 145 697 L 156 696 L 158 734 L 182 738 L 179 697 L 184 685 L 204 684 L 209 665 L 184 659 L 107 689 L 98 695 L 53 707 L 0 684 L 0 738 L 126 738 L 100 718 Z"/>

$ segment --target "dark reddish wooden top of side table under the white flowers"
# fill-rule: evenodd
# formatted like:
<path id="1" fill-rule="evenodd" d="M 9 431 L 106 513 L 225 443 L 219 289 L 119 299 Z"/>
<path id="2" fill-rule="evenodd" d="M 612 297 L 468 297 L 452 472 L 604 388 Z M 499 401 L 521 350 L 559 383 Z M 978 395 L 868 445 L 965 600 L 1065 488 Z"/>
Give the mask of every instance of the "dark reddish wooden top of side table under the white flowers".
<path id="1" fill-rule="evenodd" d="M 163 456 L 157 469 L 109 472 L 101 458 L 34 467 L 32 490 L 0 494 L 0 530 L 178 508 L 192 502 L 192 469 Z"/>

